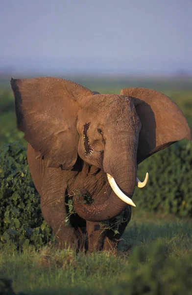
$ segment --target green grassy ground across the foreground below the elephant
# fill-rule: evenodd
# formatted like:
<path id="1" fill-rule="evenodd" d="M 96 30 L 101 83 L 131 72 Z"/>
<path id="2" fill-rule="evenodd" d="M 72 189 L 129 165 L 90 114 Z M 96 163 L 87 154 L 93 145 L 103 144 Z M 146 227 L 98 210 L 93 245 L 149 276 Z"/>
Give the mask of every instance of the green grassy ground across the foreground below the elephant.
<path id="1" fill-rule="evenodd" d="M 156 294 L 153 285 L 158 280 L 164 292 L 167 279 L 171 286 L 172 275 L 182 277 L 180 285 L 191 276 L 183 278 L 184 270 L 192 271 L 192 221 L 135 209 L 119 250 L 119 257 L 114 257 L 109 252 L 75 255 L 72 250 L 55 247 L 38 252 L 30 247 L 20 252 L 7 247 L 0 250 L 0 277 L 12 280 L 16 293 L 30 295 L 143 294 L 133 293 L 138 276 L 141 285 L 147 283 L 152 292 L 147 294 Z M 179 294 L 171 292 L 168 294 Z"/>

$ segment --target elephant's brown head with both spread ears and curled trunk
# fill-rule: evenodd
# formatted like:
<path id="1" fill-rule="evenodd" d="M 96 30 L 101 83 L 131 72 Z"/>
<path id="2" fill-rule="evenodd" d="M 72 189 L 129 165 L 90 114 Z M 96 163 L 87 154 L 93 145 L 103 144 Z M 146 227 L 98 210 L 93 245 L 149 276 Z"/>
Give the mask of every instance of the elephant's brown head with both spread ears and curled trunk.
<path id="1" fill-rule="evenodd" d="M 48 167 L 72 169 L 77 154 L 102 169 L 120 198 L 130 205 L 137 165 L 172 143 L 191 140 L 177 105 L 152 89 L 127 88 L 99 94 L 57 78 L 11 80 L 18 128 Z M 107 179 L 107 178 L 106 178 Z M 114 180 L 115 179 L 115 180 Z M 103 204 L 84 204 L 77 213 L 104 220 L 126 206 L 112 193 Z"/>

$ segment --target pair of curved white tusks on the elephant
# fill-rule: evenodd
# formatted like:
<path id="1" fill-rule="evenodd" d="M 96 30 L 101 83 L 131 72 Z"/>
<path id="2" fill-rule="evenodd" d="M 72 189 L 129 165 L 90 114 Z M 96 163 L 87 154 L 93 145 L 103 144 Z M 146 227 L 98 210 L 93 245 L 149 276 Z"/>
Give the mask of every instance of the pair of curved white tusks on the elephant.
<path id="1" fill-rule="evenodd" d="M 114 191 L 114 193 L 126 204 L 136 207 L 136 205 L 133 203 L 133 201 L 120 190 L 115 179 L 108 173 L 107 173 L 107 178 L 108 178 L 109 184 L 110 184 L 112 190 Z M 147 181 L 148 181 L 148 173 L 146 173 L 146 176 L 145 176 L 145 179 L 143 182 L 141 182 L 139 180 L 139 178 L 137 177 L 136 185 L 139 188 L 145 187 L 147 184 Z"/>

